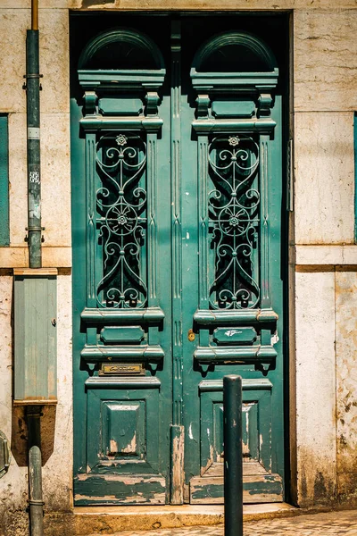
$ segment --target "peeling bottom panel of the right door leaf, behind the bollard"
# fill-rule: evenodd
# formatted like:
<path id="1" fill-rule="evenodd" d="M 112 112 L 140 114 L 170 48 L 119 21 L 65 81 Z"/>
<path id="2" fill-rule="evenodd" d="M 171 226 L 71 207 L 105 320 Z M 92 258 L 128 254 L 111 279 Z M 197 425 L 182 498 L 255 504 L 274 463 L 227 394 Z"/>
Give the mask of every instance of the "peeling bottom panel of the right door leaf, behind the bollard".
<path id="1" fill-rule="evenodd" d="M 190 502 L 220 503 L 223 497 L 223 384 L 201 381 L 201 473 L 190 481 Z M 282 478 L 271 473 L 271 389 L 267 379 L 243 381 L 244 499 L 283 500 Z"/>

